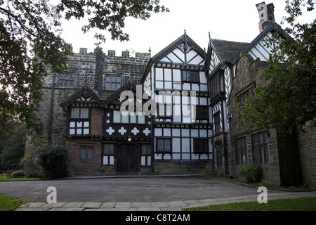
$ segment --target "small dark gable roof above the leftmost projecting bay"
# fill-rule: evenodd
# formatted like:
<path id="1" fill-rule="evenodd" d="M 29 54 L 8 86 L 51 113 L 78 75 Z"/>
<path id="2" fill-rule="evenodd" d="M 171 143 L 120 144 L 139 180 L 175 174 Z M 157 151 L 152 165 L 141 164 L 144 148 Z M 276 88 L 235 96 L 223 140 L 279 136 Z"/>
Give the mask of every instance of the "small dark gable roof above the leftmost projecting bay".
<path id="1" fill-rule="evenodd" d="M 98 103 L 98 105 L 100 105 L 100 107 L 103 106 L 103 101 L 101 100 L 100 96 L 98 96 L 98 94 L 96 94 L 96 92 L 94 92 L 92 89 L 90 89 L 86 84 L 84 86 L 82 86 L 81 89 L 79 89 L 74 94 L 72 94 L 72 96 L 67 98 L 66 101 L 60 103 L 60 106 L 64 110 L 67 110 L 67 108 L 70 105 L 72 105 L 72 103 L 74 103 L 75 101 L 81 101 L 81 99 L 79 100 L 79 98 L 81 98 L 81 96 L 83 96 L 84 99 L 90 98 L 89 101 L 95 101 L 96 103 Z"/>

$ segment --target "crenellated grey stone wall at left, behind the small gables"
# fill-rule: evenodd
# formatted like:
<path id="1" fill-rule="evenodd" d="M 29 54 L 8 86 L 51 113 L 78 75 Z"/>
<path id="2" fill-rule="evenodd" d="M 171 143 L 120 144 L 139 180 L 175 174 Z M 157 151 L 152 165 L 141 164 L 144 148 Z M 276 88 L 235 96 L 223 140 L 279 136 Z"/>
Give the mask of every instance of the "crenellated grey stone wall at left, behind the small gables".
<path id="1" fill-rule="evenodd" d="M 113 52 L 113 51 L 112 51 Z M 110 55 L 110 52 L 109 52 Z M 114 53 L 115 55 L 115 53 Z M 102 92 L 98 93 L 101 98 L 106 99 L 114 91 L 105 89 L 105 75 L 107 73 L 121 75 L 124 85 L 129 82 L 140 84 L 140 79 L 150 59 L 150 53 L 136 53 L 136 57 L 129 57 L 128 52 L 122 56 L 105 56 L 103 60 Z M 49 65 L 46 66 L 48 75 L 42 78 L 44 101 L 41 102 L 39 117 L 44 123 L 44 132 L 51 144 L 65 146 L 67 134 L 67 113 L 62 110 L 60 103 L 72 96 L 78 89 L 87 84 L 91 89 L 96 84 L 96 54 L 87 53 L 87 49 L 80 49 L 80 53 L 74 53 L 69 57 L 68 68 L 65 74 L 74 75 L 73 84 L 61 85 L 65 75 L 52 72 Z M 29 148 L 31 148 L 29 146 Z"/>

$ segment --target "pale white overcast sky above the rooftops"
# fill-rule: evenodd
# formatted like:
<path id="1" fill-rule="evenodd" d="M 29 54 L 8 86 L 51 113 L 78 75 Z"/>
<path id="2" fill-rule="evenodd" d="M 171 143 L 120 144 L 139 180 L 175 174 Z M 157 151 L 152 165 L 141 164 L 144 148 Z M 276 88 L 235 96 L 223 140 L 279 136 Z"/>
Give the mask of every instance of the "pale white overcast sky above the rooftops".
<path id="1" fill-rule="evenodd" d="M 107 41 L 101 47 L 116 51 L 133 49 L 136 52 L 148 52 L 151 48 L 152 56 L 162 51 L 180 37 L 184 30 L 202 49 L 207 48 L 209 32 L 213 39 L 251 42 L 259 34 L 259 15 L 256 4 L 261 0 L 161 0 L 161 4 L 170 9 L 169 13 L 153 14 L 148 20 L 126 19 L 126 27 L 130 41 L 112 41 L 110 34 L 104 32 Z M 265 1 L 275 6 L 275 21 L 281 23 L 285 0 Z M 303 13 L 302 23 L 310 23 L 315 19 L 315 11 Z M 96 40 L 93 38 L 96 31 L 83 34 L 81 23 L 78 20 L 62 21 L 62 37 L 72 44 L 74 53 L 80 48 L 87 48 L 92 52 Z M 284 28 L 284 26 L 282 26 Z"/>

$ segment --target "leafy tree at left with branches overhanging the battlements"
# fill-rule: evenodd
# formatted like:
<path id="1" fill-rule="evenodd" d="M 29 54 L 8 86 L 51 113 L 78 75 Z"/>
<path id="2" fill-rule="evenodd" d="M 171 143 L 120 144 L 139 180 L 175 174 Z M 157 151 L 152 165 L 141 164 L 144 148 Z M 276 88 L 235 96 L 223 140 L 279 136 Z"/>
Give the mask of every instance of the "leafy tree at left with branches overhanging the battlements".
<path id="1" fill-rule="evenodd" d="M 0 0 L 0 129 L 14 118 L 24 122 L 29 134 L 43 138 L 43 124 L 37 120 L 42 101 L 41 78 L 45 65 L 53 72 L 67 69 L 71 44 L 60 37 L 60 18 L 88 17 L 82 30 L 108 30 L 112 39 L 129 40 L 122 31 L 127 17 L 147 19 L 151 13 L 168 11 L 159 0 Z M 99 44 L 103 34 L 96 34 Z"/>

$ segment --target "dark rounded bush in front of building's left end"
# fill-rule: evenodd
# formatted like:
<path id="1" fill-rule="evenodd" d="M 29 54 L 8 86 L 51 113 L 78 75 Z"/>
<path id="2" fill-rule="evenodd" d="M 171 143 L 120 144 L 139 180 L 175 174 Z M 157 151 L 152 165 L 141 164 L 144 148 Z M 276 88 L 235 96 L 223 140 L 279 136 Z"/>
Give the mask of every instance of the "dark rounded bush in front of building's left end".
<path id="1" fill-rule="evenodd" d="M 62 146 L 44 146 L 37 155 L 37 162 L 43 169 L 44 179 L 67 176 L 68 160 L 68 151 Z"/>

